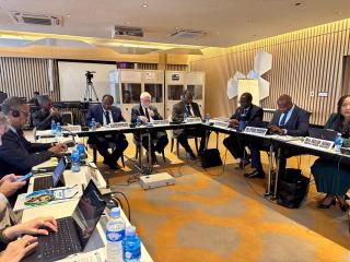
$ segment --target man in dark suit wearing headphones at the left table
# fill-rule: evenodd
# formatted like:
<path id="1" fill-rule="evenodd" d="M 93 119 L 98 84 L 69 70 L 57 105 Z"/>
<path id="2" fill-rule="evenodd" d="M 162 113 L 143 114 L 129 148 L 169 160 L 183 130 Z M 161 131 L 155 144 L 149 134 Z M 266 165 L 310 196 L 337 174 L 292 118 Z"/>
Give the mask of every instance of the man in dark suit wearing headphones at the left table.
<path id="1" fill-rule="evenodd" d="M 8 131 L 0 146 L 0 177 L 7 174 L 25 175 L 32 167 L 67 150 L 66 144 L 31 143 L 24 138 L 22 127 L 27 122 L 30 106 L 20 97 L 9 97 L 1 106 L 8 117 Z"/>

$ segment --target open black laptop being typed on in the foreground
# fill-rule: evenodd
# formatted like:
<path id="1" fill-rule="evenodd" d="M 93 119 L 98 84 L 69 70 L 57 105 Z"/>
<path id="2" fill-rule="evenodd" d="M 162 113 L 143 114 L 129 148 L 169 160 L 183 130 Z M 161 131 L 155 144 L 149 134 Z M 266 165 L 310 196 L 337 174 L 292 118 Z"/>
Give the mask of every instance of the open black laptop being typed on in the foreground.
<path id="1" fill-rule="evenodd" d="M 90 180 L 73 214 L 57 219 L 57 233 L 37 236 L 38 246 L 23 261 L 56 261 L 84 251 L 105 207 L 106 202 Z"/>

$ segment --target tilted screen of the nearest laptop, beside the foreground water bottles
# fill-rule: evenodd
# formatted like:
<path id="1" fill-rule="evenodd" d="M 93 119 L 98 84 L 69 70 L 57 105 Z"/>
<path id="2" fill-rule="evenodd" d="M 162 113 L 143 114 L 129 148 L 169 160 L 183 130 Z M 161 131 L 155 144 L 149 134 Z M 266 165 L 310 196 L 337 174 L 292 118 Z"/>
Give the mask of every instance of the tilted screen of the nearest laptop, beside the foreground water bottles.
<path id="1" fill-rule="evenodd" d="M 72 215 L 83 249 L 94 231 L 105 206 L 106 202 L 102 199 L 100 190 L 90 180 Z"/>

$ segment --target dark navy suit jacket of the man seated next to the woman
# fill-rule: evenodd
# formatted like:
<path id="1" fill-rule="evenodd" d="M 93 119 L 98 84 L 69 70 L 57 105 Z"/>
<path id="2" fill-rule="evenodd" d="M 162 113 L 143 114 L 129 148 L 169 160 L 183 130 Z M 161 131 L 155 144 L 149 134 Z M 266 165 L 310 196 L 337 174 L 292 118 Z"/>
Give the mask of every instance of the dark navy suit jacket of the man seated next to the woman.
<path id="1" fill-rule="evenodd" d="M 282 112 L 280 110 L 275 111 L 272 120 L 269 124 L 276 124 L 279 127 L 279 120 Z M 292 136 L 306 136 L 310 126 L 310 112 L 295 106 L 283 129 L 287 130 L 287 134 Z"/>

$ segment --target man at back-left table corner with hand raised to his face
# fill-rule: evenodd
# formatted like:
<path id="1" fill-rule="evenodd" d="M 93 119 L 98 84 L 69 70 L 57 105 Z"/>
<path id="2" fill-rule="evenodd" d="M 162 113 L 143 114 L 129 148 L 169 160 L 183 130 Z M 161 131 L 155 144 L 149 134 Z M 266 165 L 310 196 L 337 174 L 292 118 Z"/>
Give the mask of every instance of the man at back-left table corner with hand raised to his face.
<path id="1" fill-rule="evenodd" d="M 39 95 L 36 97 L 40 105 L 40 110 L 35 111 L 32 116 L 33 126 L 37 130 L 47 130 L 51 127 L 51 121 L 62 123 L 60 112 L 52 106 L 52 100 L 47 95 Z"/>

